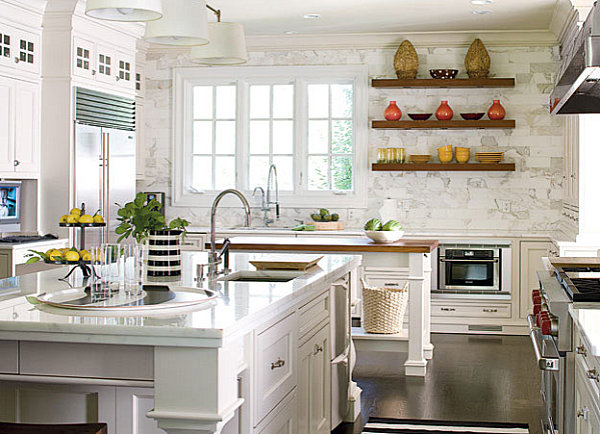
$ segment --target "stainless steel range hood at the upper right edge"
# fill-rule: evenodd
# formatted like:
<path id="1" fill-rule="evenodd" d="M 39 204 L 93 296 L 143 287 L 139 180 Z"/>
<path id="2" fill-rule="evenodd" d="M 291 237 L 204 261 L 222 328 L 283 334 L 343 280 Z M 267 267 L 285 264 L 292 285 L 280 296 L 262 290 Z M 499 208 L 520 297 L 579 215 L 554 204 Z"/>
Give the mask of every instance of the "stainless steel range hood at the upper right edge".
<path id="1" fill-rule="evenodd" d="M 573 40 L 563 46 L 552 114 L 600 113 L 600 7 L 597 2 Z"/>

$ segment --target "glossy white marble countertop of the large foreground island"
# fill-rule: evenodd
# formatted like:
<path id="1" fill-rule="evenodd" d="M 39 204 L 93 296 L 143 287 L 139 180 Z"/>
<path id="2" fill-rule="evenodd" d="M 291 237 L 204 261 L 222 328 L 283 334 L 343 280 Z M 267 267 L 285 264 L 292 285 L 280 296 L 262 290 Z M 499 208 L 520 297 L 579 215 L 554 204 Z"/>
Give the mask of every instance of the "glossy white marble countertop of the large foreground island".
<path id="1" fill-rule="evenodd" d="M 181 280 L 171 283 L 196 287 L 197 265 L 207 262 L 207 253 L 183 252 L 182 256 Z M 248 263 L 249 260 L 269 256 L 272 257 L 267 253 L 232 252 L 230 268 L 234 271 L 251 270 L 254 267 Z M 290 255 L 296 260 L 302 256 Z M 314 258 L 315 255 L 306 256 Z M 323 255 L 317 267 L 289 282 L 217 281 L 208 285 L 219 292 L 216 300 L 152 314 L 100 314 L 34 306 L 26 300 L 27 295 L 68 289 L 71 285 L 81 286 L 81 276 L 73 277 L 70 282 L 58 280 L 67 273 L 67 267 L 3 279 L 0 280 L 0 340 L 182 346 L 197 346 L 210 340 L 214 344 L 215 340 L 236 335 L 304 299 L 308 301 L 359 264 L 360 256 Z"/>

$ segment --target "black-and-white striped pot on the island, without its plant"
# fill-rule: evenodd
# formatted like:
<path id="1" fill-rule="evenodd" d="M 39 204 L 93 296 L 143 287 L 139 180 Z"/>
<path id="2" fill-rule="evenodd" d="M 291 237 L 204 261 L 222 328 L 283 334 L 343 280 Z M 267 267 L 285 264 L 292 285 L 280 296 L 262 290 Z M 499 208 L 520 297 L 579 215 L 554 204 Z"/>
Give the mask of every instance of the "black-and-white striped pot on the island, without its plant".
<path id="1" fill-rule="evenodd" d="M 150 231 L 148 237 L 148 276 L 181 276 L 181 231 Z"/>

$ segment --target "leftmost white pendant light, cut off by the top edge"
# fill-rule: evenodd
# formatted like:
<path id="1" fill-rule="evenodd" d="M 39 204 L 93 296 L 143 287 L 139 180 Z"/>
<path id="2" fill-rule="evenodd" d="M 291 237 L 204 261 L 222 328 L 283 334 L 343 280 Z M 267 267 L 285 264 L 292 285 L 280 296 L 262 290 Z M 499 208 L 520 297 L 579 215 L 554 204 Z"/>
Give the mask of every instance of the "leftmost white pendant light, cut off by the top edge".
<path id="1" fill-rule="evenodd" d="M 85 14 L 108 21 L 152 21 L 163 15 L 161 0 L 87 0 Z"/>

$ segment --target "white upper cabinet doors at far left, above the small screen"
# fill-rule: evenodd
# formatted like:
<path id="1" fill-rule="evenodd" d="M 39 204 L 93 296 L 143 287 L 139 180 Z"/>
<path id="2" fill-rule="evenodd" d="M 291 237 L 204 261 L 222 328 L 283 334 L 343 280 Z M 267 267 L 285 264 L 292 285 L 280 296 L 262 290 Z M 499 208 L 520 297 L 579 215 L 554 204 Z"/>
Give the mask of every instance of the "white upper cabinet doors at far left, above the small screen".
<path id="1" fill-rule="evenodd" d="M 0 77 L 0 176 L 39 173 L 40 85 Z"/>

